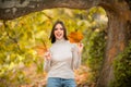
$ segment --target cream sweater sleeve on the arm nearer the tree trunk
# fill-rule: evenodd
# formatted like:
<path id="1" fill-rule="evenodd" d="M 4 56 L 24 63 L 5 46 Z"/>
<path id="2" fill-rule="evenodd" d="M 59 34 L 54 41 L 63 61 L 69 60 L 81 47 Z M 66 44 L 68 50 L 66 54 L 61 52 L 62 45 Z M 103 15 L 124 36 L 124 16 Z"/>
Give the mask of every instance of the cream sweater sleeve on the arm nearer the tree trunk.
<path id="1" fill-rule="evenodd" d="M 72 63 L 73 70 L 79 69 L 79 66 L 81 65 L 81 53 L 79 52 L 79 48 L 76 45 L 73 45 L 72 48 Z"/>

